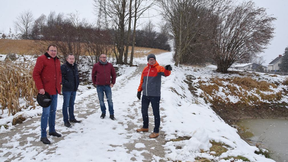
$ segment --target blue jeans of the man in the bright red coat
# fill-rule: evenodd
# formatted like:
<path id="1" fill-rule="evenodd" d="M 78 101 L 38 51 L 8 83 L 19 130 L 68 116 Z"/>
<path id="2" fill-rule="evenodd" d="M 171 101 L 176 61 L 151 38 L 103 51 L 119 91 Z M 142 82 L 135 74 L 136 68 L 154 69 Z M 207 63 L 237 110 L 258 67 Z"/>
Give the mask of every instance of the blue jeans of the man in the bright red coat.
<path id="1" fill-rule="evenodd" d="M 55 116 L 57 110 L 57 98 L 58 94 L 50 95 L 52 101 L 51 105 L 47 108 L 42 108 L 41 116 L 41 137 L 47 137 L 47 123 L 49 124 L 49 132 L 55 132 Z"/>

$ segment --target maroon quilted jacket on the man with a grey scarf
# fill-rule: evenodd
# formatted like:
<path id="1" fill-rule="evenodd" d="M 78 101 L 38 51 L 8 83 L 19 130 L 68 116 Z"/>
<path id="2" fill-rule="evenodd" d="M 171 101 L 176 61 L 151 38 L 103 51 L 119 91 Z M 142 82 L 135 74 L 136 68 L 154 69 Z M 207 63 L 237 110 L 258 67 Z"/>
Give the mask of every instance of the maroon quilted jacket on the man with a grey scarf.
<path id="1" fill-rule="evenodd" d="M 101 64 L 100 61 L 94 64 L 92 69 L 92 82 L 96 85 L 110 85 L 116 82 L 116 72 L 111 63 L 105 65 Z"/>

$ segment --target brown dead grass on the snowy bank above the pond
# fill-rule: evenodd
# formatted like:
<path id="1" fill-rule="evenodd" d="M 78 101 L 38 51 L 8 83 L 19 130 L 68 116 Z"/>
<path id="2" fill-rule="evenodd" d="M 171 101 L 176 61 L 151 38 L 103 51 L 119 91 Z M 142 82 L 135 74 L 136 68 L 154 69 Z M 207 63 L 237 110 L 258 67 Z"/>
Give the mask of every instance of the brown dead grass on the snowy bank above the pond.
<path id="1" fill-rule="evenodd" d="M 224 82 L 228 82 L 228 84 L 224 85 Z M 232 95 L 237 96 L 239 98 L 239 103 L 250 106 L 251 104 L 258 105 L 260 103 L 259 97 L 254 94 L 248 94 L 249 91 L 254 91 L 258 94 L 261 99 L 268 101 L 279 101 L 282 98 L 282 92 L 272 93 L 272 94 L 264 94 L 263 92 L 273 92 L 270 89 L 270 86 L 273 88 L 277 88 L 275 84 L 268 83 L 265 81 L 256 81 L 250 77 L 234 77 L 232 79 L 227 78 L 211 78 L 208 82 L 199 81 L 199 87 L 204 91 L 202 93 L 202 97 L 208 100 L 213 105 L 217 104 L 228 104 L 230 103 L 230 99 L 228 97 L 221 98 L 217 95 L 219 91 L 219 87 L 226 87 L 222 92 L 225 93 L 226 96 Z M 234 86 L 238 85 L 239 89 Z M 210 97 L 209 97 L 210 96 Z M 211 97 L 213 99 L 211 99 Z"/>

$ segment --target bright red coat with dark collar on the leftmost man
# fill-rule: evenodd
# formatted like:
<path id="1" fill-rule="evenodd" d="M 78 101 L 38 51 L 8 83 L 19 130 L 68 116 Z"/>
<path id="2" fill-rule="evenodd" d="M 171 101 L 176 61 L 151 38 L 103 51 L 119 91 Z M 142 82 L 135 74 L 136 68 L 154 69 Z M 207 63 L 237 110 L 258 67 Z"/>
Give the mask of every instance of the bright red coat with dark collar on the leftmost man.
<path id="1" fill-rule="evenodd" d="M 33 69 L 33 79 L 38 90 L 44 88 L 49 95 L 56 95 L 61 92 L 62 75 L 60 60 L 56 56 L 54 59 L 46 52 L 37 58 Z"/>

